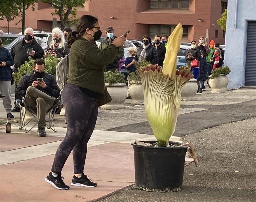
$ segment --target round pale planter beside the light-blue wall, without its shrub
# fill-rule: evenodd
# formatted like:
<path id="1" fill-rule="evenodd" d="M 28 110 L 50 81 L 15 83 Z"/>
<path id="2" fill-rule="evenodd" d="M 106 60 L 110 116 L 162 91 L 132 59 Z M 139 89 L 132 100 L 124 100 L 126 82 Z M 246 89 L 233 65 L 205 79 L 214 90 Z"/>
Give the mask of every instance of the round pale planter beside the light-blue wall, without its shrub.
<path id="1" fill-rule="evenodd" d="M 211 76 L 209 76 L 211 77 Z M 209 79 L 209 85 L 212 93 L 227 91 L 228 78 L 224 74 L 220 74 L 217 78 Z"/>

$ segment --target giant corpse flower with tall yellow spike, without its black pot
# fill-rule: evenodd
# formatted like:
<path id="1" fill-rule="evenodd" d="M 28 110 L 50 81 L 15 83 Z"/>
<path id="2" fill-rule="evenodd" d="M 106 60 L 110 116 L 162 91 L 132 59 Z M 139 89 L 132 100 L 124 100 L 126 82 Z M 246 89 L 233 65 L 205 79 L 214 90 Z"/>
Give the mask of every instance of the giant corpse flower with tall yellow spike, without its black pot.
<path id="1" fill-rule="evenodd" d="M 168 39 L 162 71 L 158 65 L 138 69 L 143 85 L 146 116 L 159 146 L 169 143 L 175 131 L 182 88 L 193 78 L 189 67 L 176 70 L 176 55 L 182 33 L 182 25 L 178 24 Z"/>

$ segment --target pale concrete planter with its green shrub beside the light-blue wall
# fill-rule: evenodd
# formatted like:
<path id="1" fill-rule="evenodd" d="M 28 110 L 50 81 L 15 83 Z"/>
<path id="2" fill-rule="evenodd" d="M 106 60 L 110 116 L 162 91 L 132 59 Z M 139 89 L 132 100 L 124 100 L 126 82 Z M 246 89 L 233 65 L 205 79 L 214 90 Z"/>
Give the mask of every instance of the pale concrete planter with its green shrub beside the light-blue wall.
<path id="1" fill-rule="evenodd" d="M 211 87 L 211 92 L 223 92 L 227 91 L 228 78 L 226 75 L 230 73 L 228 66 L 216 68 L 211 72 L 209 76 L 209 85 Z"/>

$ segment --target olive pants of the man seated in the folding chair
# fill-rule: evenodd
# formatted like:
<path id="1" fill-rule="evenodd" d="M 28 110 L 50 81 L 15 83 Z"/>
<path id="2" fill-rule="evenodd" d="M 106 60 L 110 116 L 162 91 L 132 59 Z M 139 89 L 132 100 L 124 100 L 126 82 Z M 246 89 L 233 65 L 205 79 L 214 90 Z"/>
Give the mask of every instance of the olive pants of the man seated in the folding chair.
<path id="1" fill-rule="evenodd" d="M 37 111 L 38 128 L 45 128 L 46 111 L 51 109 L 56 98 L 51 97 L 35 87 L 29 86 L 24 98 L 24 105 Z"/>

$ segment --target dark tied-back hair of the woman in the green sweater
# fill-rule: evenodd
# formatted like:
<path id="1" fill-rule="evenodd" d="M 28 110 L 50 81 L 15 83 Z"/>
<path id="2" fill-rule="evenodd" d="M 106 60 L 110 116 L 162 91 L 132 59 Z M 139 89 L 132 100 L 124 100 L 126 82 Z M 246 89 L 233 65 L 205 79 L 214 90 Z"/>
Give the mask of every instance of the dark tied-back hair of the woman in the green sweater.
<path id="1" fill-rule="evenodd" d="M 72 31 L 67 36 L 67 44 L 70 48 L 71 45 L 80 36 L 83 36 L 87 28 L 92 28 L 98 22 L 98 18 L 91 15 L 83 15 L 77 23 L 77 31 Z"/>

